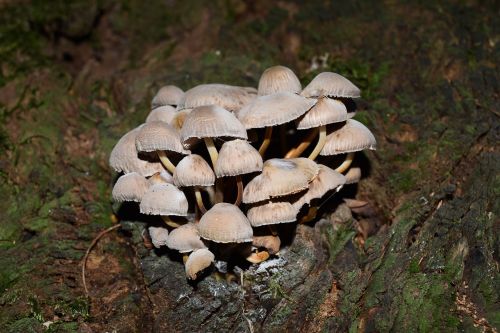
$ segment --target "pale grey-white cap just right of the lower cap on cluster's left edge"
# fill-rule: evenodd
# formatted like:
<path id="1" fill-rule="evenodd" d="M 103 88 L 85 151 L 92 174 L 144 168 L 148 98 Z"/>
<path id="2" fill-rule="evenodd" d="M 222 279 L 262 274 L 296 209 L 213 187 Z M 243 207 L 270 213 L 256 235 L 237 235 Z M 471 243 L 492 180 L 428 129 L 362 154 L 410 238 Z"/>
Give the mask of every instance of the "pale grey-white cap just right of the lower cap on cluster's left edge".
<path id="1" fill-rule="evenodd" d="M 155 184 L 142 196 L 142 214 L 186 216 L 188 201 L 184 192 L 172 184 Z"/>

